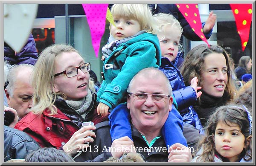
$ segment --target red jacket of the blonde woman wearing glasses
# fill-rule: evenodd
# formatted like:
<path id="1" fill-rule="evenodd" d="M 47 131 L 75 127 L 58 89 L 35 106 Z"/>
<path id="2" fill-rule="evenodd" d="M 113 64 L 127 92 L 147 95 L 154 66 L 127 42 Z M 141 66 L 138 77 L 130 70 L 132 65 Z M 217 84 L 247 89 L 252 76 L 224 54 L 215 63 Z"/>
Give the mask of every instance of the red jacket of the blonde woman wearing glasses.
<path id="1" fill-rule="evenodd" d="M 63 101 L 61 102 L 63 103 Z M 68 108 L 70 112 L 73 111 L 72 109 L 70 110 L 70 107 L 66 109 Z M 93 110 L 90 113 L 92 117 L 91 121 L 95 124 L 108 120 L 108 116 L 101 117 L 101 115 L 97 115 L 94 102 L 91 110 Z M 72 116 L 76 117 L 77 115 L 73 113 Z M 15 128 L 29 134 L 41 147 L 55 147 L 59 149 L 70 140 L 74 132 L 81 128 L 81 123 L 79 123 L 81 118 L 79 116 L 77 118 L 79 119 L 75 121 L 77 123 L 71 121 L 60 109 L 57 109 L 57 114 L 55 115 L 49 115 L 47 110 L 44 110 L 42 114 L 38 115 L 30 112 L 15 125 Z"/>

